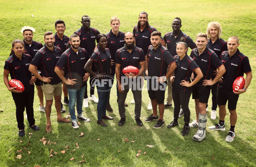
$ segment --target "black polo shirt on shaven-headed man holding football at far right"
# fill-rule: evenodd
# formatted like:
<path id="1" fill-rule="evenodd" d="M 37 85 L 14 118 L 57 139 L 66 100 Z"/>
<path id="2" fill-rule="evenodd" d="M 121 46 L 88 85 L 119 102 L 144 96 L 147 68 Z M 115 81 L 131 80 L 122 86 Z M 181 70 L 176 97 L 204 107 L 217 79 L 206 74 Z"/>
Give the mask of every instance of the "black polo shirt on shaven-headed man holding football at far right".
<path id="1" fill-rule="evenodd" d="M 223 75 L 223 82 L 219 83 L 218 88 L 226 93 L 233 93 L 234 80 L 239 76 L 244 76 L 244 73 L 247 74 L 252 71 L 249 59 L 237 49 L 231 57 L 228 51 L 222 52 L 221 61 L 226 68 L 226 73 Z"/>

